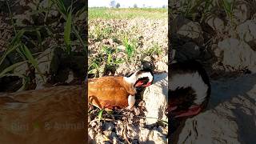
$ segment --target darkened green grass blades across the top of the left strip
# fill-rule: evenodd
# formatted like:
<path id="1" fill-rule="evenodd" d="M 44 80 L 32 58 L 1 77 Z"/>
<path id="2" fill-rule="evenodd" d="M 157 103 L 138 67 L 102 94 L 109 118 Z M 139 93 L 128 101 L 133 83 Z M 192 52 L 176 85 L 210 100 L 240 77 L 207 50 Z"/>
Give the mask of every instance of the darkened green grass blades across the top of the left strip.
<path id="1" fill-rule="evenodd" d="M 84 16 L 86 14 L 86 6 L 83 6 L 82 9 L 79 9 L 76 13 L 74 13 L 74 10 L 72 8 L 73 1 L 71 2 L 70 6 L 65 6 L 64 0 L 49 0 L 47 2 L 48 4 L 46 7 L 39 5 L 39 1 L 33 2 L 36 8 L 32 8 L 33 10 L 31 10 L 31 14 L 38 14 L 40 16 L 43 16 L 43 26 L 35 25 L 18 28 L 15 27 L 17 26 L 17 23 L 15 23 L 13 19 L 13 14 L 10 9 L 10 1 L 6 1 L 6 4 L 8 6 L 7 8 L 10 14 L 10 22 L 13 26 L 14 38 L 11 39 L 10 43 L 6 47 L 5 52 L 1 55 L 0 65 L 2 65 L 6 58 L 10 58 L 10 54 L 17 54 L 17 59 L 19 60 L 19 62 L 11 63 L 10 66 L 7 66 L 4 70 L 0 71 L 0 78 L 18 76 L 19 78 L 22 78 L 22 87 L 24 88 L 32 79 L 30 79 L 28 75 L 14 73 L 14 70 L 18 66 L 27 65 L 29 68 L 34 68 L 36 70 L 36 73 L 38 73 L 42 77 L 42 80 L 44 82 L 46 81 L 44 75 L 38 67 L 38 62 L 35 57 L 45 49 L 45 46 L 43 45 L 47 42 L 50 42 L 44 39 L 46 38 L 46 36 L 49 36 L 48 34 L 50 34 L 50 37 L 56 38 L 56 36 L 54 35 L 54 28 L 52 28 L 49 25 L 50 22 L 47 21 L 48 14 L 50 14 L 51 10 L 58 10 L 58 12 L 62 14 L 62 18 L 66 20 L 64 27 L 64 38 L 62 41 L 65 44 L 65 46 L 63 47 L 65 47 L 64 50 L 66 50 L 66 53 L 70 54 L 71 48 L 72 46 L 74 46 L 74 43 L 72 45 L 70 38 L 70 35 L 74 34 L 78 38 L 79 42 L 82 43 L 82 47 L 84 48 L 85 54 L 87 54 L 86 40 L 82 39 L 82 37 L 80 36 L 81 34 L 78 33 L 78 28 L 74 26 L 74 22 L 81 20 L 81 16 Z M 42 31 L 45 30 L 47 30 L 46 34 L 42 34 Z"/>

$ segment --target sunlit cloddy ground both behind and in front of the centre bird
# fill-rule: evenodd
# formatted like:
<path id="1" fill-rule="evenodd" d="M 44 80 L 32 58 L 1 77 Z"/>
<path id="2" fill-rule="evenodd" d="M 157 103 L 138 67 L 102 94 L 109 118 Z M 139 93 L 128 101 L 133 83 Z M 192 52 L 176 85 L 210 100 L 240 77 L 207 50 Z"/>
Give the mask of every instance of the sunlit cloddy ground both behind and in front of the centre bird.
<path id="1" fill-rule="evenodd" d="M 142 68 L 150 68 L 154 74 L 166 73 L 167 17 L 167 9 L 89 8 L 89 78 L 128 75 Z M 111 114 L 90 106 L 90 140 L 166 143 L 166 122 L 160 120 L 160 124 L 146 127 L 145 112 L 141 99 L 132 110 Z"/>

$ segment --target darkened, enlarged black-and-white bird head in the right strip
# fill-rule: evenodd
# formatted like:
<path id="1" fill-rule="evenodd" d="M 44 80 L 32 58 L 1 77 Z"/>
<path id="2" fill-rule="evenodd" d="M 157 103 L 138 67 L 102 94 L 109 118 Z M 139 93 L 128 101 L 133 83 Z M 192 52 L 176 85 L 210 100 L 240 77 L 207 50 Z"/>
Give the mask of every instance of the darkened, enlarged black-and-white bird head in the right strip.
<path id="1" fill-rule="evenodd" d="M 188 118 L 199 114 L 210 98 L 210 79 L 200 62 L 170 65 L 167 116 Z"/>

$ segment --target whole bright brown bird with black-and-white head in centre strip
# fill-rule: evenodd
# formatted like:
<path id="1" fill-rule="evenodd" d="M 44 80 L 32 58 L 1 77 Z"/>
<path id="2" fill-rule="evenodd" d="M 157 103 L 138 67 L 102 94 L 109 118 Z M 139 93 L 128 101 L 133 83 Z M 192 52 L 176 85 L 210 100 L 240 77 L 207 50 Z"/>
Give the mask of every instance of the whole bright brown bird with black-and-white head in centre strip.
<path id="1" fill-rule="evenodd" d="M 100 109 L 132 108 L 138 89 L 150 86 L 154 80 L 149 69 L 138 70 L 129 77 L 89 78 L 88 102 Z"/>

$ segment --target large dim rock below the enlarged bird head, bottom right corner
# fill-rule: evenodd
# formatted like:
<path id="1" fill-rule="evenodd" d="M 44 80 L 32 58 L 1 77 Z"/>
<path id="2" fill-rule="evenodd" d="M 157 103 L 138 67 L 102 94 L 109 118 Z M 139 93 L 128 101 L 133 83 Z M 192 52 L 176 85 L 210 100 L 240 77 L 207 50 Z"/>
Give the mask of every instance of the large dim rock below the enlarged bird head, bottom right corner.
<path id="1" fill-rule="evenodd" d="M 212 82 L 208 110 L 188 118 L 176 143 L 256 142 L 256 75 Z"/>

